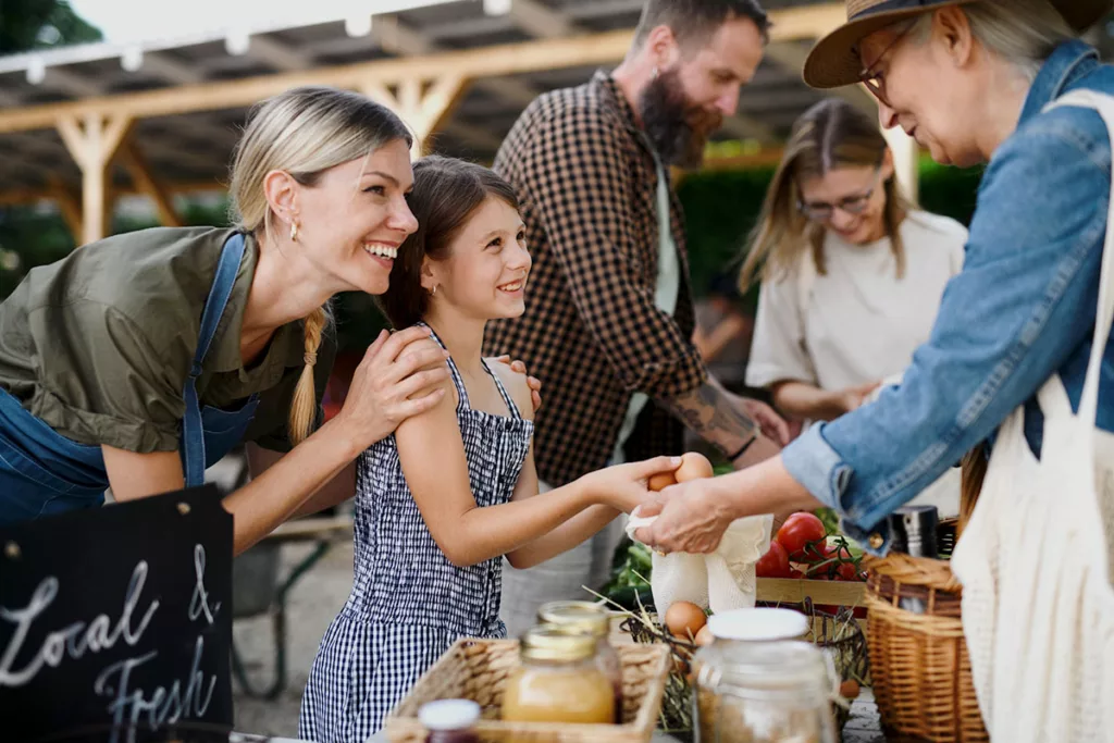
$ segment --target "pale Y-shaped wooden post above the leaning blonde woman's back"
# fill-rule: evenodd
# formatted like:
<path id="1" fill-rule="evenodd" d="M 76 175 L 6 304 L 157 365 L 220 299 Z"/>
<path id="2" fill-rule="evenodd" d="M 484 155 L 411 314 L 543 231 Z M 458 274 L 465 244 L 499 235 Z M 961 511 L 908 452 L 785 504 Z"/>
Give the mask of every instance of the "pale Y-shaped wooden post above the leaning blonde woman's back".
<path id="1" fill-rule="evenodd" d="M 133 119 L 126 115 L 87 114 L 58 119 L 58 133 L 81 168 L 81 238 L 87 245 L 108 229 L 108 166 L 119 149 Z"/>

